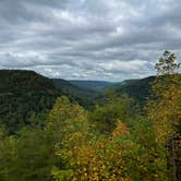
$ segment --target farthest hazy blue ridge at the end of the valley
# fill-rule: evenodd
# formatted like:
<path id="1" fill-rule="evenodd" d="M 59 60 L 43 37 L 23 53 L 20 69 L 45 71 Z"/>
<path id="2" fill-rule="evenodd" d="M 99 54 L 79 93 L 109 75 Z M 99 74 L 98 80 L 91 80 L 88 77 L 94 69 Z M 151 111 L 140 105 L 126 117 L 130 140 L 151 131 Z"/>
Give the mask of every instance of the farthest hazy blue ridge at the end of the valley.
<path id="1" fill-rule="evenodd" d="M 85 87 L 96 90 L 100 90 L 113 84 L 106 81 L 79 81 L 79 80 L 71 80 L 70 83 L 79 87 Z"/>

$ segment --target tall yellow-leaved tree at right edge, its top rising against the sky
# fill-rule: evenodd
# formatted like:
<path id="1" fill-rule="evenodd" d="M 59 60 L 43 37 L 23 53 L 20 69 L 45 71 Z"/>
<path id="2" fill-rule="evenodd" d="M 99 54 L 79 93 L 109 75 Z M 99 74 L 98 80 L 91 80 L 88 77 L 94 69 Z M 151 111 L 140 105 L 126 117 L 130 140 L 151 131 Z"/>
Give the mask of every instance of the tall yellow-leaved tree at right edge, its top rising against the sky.
<path id="1" fill-rule="evenodd" d="M 166 145 L 181 128 L 181 74 L 174 53 L 165 51 L 156 63 L 157 76 L 152 86 L 148 117 L 155 122 L 156 140 Z"/>

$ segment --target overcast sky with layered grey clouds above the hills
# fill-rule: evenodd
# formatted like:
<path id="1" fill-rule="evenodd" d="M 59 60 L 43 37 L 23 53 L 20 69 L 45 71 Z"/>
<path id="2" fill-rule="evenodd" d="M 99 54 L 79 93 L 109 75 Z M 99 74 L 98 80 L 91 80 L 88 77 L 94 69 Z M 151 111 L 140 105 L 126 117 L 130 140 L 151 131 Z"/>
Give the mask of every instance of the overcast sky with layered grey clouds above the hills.
<path id="1" fill-rule="evenodd" d="M 181 60 L 181 0 L 0 0 L 0 69 L 119 82 L 164 50 Z"/>

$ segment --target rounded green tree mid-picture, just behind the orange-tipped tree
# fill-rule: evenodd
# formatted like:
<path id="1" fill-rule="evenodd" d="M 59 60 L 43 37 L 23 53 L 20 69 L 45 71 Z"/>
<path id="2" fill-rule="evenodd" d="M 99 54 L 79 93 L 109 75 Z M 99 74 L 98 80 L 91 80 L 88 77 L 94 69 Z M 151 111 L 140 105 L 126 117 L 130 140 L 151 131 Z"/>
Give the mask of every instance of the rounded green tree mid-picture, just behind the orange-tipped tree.
<path id="1" fill-rule="evenodd" d="M 118 97 L 109 94 L 105 105 L 97 106 L 89 114 L 89 120 L 96 125 L 96 130 L 104 134 L 110 134 L 118 121 L 129 123 L 131 99 L 126 96 Z"/>

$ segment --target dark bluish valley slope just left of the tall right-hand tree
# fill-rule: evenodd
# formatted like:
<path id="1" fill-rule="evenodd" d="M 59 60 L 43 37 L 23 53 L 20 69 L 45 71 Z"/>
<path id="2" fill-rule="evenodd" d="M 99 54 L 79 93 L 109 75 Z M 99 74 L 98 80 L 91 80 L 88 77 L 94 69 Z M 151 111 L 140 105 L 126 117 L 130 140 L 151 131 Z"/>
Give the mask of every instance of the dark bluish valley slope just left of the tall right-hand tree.
<path id="1" fill-rule="evenodd" d="M 152 82 L 155 76 L 149 76 L 141 80 L 125 80 L 122 83 L 110 86 L 118 95 L 126 94 L 136 101 L 144 104 L 150 96 Z"/>

